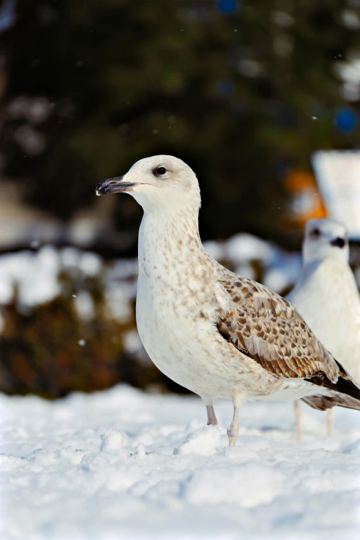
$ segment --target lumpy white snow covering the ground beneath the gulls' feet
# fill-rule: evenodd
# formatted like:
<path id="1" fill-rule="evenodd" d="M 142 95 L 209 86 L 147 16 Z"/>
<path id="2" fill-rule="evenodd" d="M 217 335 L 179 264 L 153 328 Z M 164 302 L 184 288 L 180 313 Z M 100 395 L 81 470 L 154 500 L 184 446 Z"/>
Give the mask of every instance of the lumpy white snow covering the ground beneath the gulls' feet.
<path id="1" fill-rule="evenodd" d="M 49 402 L 0 395 L 2 540 L 357 539 L 360 417 L 247 403 L 237 446 L 197 397 L 118 386 Z"/>

